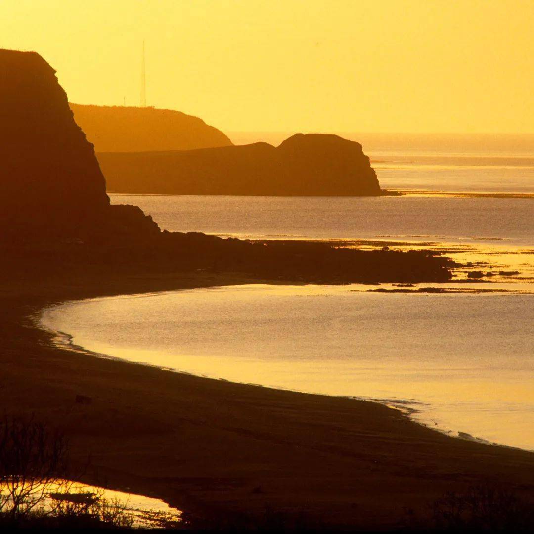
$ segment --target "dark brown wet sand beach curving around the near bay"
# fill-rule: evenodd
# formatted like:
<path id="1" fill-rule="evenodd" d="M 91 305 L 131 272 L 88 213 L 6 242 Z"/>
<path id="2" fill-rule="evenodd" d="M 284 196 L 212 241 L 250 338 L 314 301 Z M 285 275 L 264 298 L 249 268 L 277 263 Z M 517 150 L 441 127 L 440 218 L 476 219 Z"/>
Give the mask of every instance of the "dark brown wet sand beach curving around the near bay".
<path id="1" fill-rule="evenodd" d="M 447 437 L 380 404 L 76 354 L 31 319 L 63 300 L 250 281 L 101 267 L 5 273 L 3 410 L 61 428 L 100 482 L 165 499 L 196 526 L 262 522 L 267 506 L 312 524 L 387 529 L 403 525 L 406 508 L 426 514 L 435 498 L 481 481 L 534 500 L 534 454 Z"/>

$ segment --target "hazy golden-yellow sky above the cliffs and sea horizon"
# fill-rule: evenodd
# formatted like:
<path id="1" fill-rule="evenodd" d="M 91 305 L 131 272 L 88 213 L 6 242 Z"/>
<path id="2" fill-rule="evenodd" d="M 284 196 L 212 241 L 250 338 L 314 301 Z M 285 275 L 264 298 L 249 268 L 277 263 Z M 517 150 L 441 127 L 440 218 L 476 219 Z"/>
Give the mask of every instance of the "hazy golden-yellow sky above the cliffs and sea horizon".
<path id="1" fill-rule="evenodd" d="M 533 132 L 534 0 L 0 0 L 71 101 L 226 131 Z"/>

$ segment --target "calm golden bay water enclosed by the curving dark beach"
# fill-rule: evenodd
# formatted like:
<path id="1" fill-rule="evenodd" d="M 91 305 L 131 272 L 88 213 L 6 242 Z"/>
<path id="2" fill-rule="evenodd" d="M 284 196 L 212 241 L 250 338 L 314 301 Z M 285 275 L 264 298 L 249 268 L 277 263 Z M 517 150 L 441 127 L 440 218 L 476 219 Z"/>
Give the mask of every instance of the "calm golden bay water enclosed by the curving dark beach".
<path id="1" fill-rule="evenodd" d="M 236 286 L 59 305 L 77 345 L 198 375 L 380 399 L 430 426 L 534 449 L 530 294 Z"/>

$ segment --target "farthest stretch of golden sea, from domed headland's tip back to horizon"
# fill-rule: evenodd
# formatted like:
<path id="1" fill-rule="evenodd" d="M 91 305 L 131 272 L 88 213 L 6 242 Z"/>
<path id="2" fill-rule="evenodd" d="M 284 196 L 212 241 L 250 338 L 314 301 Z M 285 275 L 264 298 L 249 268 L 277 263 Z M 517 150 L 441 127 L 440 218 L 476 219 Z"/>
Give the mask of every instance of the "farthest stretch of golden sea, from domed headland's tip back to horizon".
<path id="1" fill-rule="evenodd" d="M 235 144 L 279 145 L 293 132 L 231 132 Z M 336 132 L 363 146 L 394 190 L 534 193 L 534 135 Z"/>

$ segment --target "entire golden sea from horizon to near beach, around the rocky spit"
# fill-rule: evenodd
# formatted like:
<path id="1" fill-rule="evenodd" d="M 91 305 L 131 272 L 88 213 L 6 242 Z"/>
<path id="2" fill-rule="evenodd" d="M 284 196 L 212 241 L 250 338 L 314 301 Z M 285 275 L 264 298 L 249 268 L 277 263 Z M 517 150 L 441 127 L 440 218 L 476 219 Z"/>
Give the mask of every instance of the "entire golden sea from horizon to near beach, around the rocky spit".
<path id="1" fill-rule="evenodd" d="M 451 436 L 534 450 L 534 135 L 341 135 L 403 194 L 110 197 L 169 231 L 438 250 L 461 263 L 450 282 L 122 295 L 48 308 L 42 326 L 76 350 L 373 400 Z"/>

